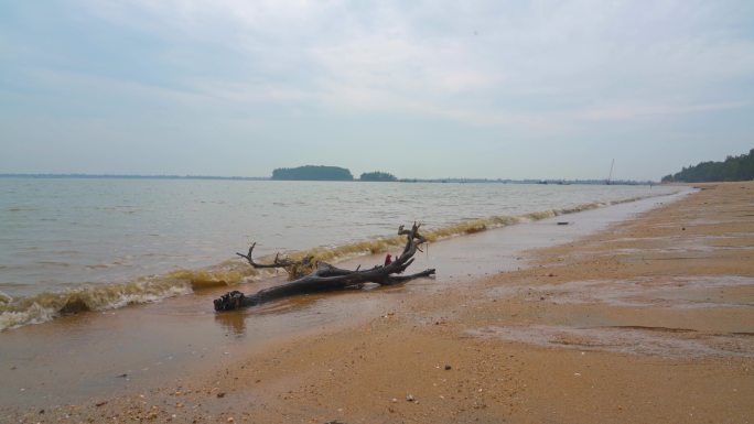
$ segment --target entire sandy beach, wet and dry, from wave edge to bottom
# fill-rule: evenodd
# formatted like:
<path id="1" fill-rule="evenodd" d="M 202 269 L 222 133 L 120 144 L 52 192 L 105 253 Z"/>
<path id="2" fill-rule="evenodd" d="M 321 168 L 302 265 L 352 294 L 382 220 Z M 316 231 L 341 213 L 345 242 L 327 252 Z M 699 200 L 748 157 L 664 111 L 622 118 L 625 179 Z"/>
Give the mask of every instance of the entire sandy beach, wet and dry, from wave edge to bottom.
<path id="1" fill-rule="evenodd" d="M 701 187 L 434 243 L 403 287 L 7 331 L 0 421 L 750 422 L 754 184 Z"/>

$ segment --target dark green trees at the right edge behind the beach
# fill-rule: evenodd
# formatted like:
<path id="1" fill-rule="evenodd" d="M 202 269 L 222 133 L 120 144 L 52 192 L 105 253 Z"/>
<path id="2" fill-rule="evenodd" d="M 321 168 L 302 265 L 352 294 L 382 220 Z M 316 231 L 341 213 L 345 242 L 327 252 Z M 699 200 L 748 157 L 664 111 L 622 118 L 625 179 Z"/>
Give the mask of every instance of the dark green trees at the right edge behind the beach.
<path id="1" fill-rule="evenodd" d="M 754 149 L 750 150 L 747 154 L 728 156 L 724 162 L 701 162 L 696 166 L 683 167 L 680 172 L 663 177 L 664 183 L 746 180 L 754 180 Z"/>

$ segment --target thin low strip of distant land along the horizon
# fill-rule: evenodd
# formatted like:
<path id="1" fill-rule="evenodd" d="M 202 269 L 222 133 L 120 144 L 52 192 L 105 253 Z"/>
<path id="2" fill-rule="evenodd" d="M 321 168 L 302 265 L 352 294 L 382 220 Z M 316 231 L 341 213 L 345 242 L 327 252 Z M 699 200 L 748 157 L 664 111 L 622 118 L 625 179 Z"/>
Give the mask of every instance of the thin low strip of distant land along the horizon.
<path id="1" fill-rule="evenodd" d="M 268 176 L 215 176 L 215 175 L 128 175 L 128 174 L 0 174 L 0 178 L 77 178 L 77 180 L 215 180 L 215 181 L 319 181 L 272 180 Z M 336 181 L 341 182 L 341 181 Z M 355 183 L 385 183 L 379 181 L 345 181 Z M 452 184 L 542 184 L 542 185 L 604 185 L 604 180 L 510 180 L 510 178 L 400 178 L 397 183 L 452 183 Z M 611 181 L 610 185 L 657 185 L 654 181 Z"/>

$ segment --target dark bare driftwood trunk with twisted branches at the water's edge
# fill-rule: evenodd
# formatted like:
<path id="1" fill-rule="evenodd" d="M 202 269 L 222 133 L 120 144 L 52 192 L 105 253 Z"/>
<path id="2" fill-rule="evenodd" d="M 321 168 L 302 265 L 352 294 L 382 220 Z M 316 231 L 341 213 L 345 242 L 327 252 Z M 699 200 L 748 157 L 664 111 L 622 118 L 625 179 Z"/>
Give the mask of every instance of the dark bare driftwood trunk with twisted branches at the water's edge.
<path id="1" fill-rule="evenodd" d="M 241 307 L 256 306 L 266 302 L 298 294 L 360 289 L 364 283 L 395 285 L 405 283 L 409 280 L 434 275 L 434 269 L 428 269 L 410 275 L 399 275 L 413 263 L 413 256 L 417 250 L 421 251 L 419 244 L 427 241 L 424 237 L 419 233 L 419 227 L 420 225 L 414 222 L 410 230 L 405 229 L 403 226 L 398 228 L 398 233 L 405 235 L 407 238 L 406 247 L 401 254 L 388 264 L 375 265 L 368 270 L 359 270 L 359 265 L 356 270 L 351 271 L 333 267 L 325 262 L 319 262 L 316 263 L 316 269 L 312 273 L 286 284 L 263 289 L 251 295 L 246 295 L 238 291 L 226 293 L 214 301 L 215 311 L 231 311 Z M 239 257 L 246 258 L 251 267 L 286 268 L 297 263 L 288 259 L 280 260 L 277 256 L 271 264 L 256 263 L 251 258 L 255 244 L 251 244 L 248 254 L 237 253 Z M 311 258 L 304 260 L 309 262 L 312 261 Z"/>

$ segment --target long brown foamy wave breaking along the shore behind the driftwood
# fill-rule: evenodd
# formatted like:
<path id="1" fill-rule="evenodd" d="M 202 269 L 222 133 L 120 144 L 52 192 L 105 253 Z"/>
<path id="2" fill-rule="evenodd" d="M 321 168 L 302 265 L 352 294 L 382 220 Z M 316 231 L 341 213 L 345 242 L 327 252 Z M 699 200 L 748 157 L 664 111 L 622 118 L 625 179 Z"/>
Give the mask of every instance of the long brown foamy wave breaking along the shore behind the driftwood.
<path id="1" fill-rule="evenodd" d="M 548 209 L 520 216 L 492 216 L 467 219 L 446 227 L 422 230 L 428 241 L 434 242 L 451 237 L 476 233 L 519 222 L 536 221 L 564 214 L 595 209 L 603 206 L 635 202 L 644 197 L 633 197 L 606 203 L 589 203 L 563 209 Z M 298 260 L 308 256 L 317 261 L 335 262 L 365 254 L 383 253 L 390 248 L 403 246 L 402 236 L 377 237 L 369 240 L 334 247 L 321 247 L 292 251 L 288 257 Z M 271 262 L 272 256 L 259 258 L 260 262 Z M 191 294 L 222 286 L 233 286 L 257 282 L 279 275 L 273 269 L 252 269 L 246 262 L 228 260 L 200 270 L 177 270 L 164 275 L 140 278 L 117 284 L 84 284 L 62 292 L 44 292 L 31 296 L 13 298 L 0 292 L 0 331 L 28 324 L 39 324 L 62 315 L 87 311 L 107 311 L 128 305 L 159 302 L 168 297 Z"/>

